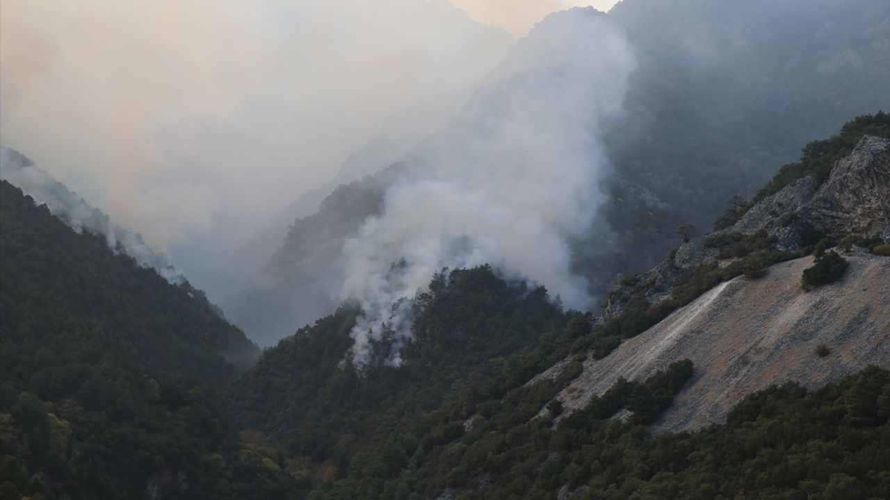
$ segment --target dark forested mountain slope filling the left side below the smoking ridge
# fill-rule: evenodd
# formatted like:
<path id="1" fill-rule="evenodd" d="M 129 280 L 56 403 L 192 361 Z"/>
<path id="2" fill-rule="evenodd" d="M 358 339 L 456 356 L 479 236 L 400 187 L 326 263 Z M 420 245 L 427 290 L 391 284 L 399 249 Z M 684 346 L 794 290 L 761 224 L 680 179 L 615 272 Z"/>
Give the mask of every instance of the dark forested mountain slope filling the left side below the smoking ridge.
<path id="1" fill-rule="evenodd" d="M 287 497 L 220 397 L 255 344 L 70 220 L 0 181 L 0 496 Z"/>

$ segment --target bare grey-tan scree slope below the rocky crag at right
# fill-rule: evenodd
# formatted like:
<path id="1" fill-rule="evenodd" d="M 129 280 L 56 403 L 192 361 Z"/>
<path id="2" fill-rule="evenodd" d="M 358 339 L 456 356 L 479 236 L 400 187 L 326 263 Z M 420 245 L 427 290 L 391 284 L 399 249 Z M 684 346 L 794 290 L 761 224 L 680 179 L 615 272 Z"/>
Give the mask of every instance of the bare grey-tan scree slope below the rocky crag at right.
<path id="1" fill-rule="evenodd" d="M 724 421 L 745 395 L 772 384 L 815 389 L 869 364 L 890 368 L 890 258 L 857 250 L 845 258 L 845 277 L 812 292 L 800 287 L 812 257 L 724 282 L 609 356 L 588 358 L 558 399 L 568 414 L 619 377 L 640 380 L 692 359 L 695 375 L 652 428 L 686 431 Z M 822 343 L 828 356 L 815 352 Z"/>

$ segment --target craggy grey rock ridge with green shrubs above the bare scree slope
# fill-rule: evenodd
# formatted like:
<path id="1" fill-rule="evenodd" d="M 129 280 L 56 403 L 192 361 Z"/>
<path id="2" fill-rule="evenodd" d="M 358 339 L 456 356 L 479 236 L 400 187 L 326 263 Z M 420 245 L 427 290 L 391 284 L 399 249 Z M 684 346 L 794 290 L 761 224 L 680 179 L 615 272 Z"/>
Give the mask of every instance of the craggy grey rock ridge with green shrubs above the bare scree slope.
<path id="1" fill-rule="evenodd" d="M 787 260 L 789 253 L 824 237 L 887 238 L 888 165 L 890 116 L 885 113 L 858 117 L 829 140 L 809 143 L 801 161 L 783 166 L 754 201 L 728 208 L 715 223 L 722 229 L 693 238 L 651 270 L 614 286 L 598 320 L 607 323 L 633 306 L 667 303 L 672 287 L 721 260 L 748 259 L 735 264 L 741 270 L 746 263 L 763 267 L 776 258 Z"/>

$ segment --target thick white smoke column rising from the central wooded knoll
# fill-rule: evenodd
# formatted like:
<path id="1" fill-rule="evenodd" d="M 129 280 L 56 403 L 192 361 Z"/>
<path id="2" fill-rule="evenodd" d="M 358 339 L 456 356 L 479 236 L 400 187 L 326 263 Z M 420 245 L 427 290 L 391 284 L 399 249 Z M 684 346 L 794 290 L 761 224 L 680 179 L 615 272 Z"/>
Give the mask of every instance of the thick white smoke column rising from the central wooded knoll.
<path id="1" fill-rule="evenodd" d="M 369 341 L 410 337 L 408 302 L 433 272 L 489 262 L 544 284 L 571 308 L 591 298 L 570 271 L 567 238 L 587 230 L 603 202 L 600 141 L 618 112 L 634 57 L 605 16 L 554 14 L 522 39 L 457 123 L 413 155 L 386 192 L 384 213 L 344 247 L 344 298 L 360 303 L 356 366 Z M 393 305 L 395 304 L 395 305 Z M 386 324 L 386 327 L 384 327 Z"/>

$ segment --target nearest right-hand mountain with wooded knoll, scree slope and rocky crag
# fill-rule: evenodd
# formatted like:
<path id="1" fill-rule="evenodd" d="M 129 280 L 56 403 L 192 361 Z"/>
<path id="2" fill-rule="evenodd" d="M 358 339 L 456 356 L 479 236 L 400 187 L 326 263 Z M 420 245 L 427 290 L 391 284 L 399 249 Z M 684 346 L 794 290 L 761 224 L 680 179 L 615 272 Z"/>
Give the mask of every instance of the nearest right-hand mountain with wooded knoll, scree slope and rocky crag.
<path id="1" fill-rule="evenodd" d="M 598 315 L 442 270 L 359 367 L 346 304 L 264 351 L 233 415 L 312 498 L 887 496 L 888 152 L 883 113 L 809 143 Z"/>

